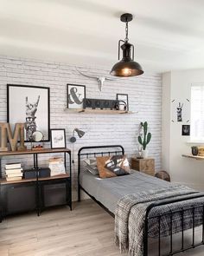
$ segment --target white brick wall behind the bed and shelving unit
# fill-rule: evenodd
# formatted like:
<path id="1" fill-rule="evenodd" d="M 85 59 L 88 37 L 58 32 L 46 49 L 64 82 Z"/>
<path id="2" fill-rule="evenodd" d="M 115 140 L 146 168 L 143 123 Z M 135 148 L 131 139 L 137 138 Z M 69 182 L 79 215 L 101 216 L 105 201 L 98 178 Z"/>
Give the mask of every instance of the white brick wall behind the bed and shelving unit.
<path id="1" fill-rule="evenodd" d="M 109 70 L 99 67 L 79 67 L 91 75 L 108 75 Z M 76 155 L 79 148 L 90 145 L 121 144 L 131 157 L 137 151 L 137 128 L 140 121 L 148 121 L 152 141 L 148 146 L 150 156 L 156 159 L 156 169 L 161 168 L 161 123 L 162 123 L 162 83 L 159 74 L 144 74 L 128 79 L 106 81 L 102 92 L 98 82 L 78 73 L 74 66 L 65 63 L 43 62 L 10 56 L 0 56 L 0 121 L 6 121 L 6 84 L 45 86 L 50 88 L 51 128 L 66 128 L 67 148 Z M 117 93 L 129 95 L 132 115 L 85 115 L 69 114 L 67 107 L 67 83 L 86 85 L 86 96 L 101 99 L 115 99 Z M 74 144 L 68 139 L 73 128 L 81 128 L 86 135 L 77 138 Z M 49 146 L 49 143 L 47 143 Z M 43 159 L 42 159 L 43 158 Z M 41 157 L 43 162 L 45 157 Z M 3 160 L 5 161 L 5 160 Z M 12 159 L 10 159 L 12 161 Z M 25 165 L 32 158 L 24 157 Z M 73 175 L 75 178 L 76 175 Z M 75 180 L 75 179 L 74 179 Z"/>

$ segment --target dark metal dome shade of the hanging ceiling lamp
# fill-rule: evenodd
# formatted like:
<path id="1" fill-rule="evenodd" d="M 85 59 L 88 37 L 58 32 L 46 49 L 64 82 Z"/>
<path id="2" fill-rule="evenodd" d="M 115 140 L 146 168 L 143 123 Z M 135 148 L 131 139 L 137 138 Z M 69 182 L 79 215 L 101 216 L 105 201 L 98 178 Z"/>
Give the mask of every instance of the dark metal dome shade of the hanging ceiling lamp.
<path id="1" fill-rule="evenodd" d="M 139 63 L 133 62 L 131 60 L 122 60 L 117 62 L 111 71 L 111 75 L 115 76 L 136 76 L 142 75 L 143 69 Z"/>

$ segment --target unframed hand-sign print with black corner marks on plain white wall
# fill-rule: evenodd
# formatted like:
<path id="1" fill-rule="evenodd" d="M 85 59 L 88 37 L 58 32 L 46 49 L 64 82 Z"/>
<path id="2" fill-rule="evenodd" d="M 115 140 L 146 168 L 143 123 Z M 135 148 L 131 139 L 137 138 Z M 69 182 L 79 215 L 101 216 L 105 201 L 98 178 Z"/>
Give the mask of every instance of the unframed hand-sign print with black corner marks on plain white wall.
<path id="1" fill-rule="evenodd" d="M 171 121 L 190 121 L 189 119 L 189 113 L 190 113 L 190 104 L 188 99 L 182 99 L 182 100 L 172 100 L 172 117 Z"/>

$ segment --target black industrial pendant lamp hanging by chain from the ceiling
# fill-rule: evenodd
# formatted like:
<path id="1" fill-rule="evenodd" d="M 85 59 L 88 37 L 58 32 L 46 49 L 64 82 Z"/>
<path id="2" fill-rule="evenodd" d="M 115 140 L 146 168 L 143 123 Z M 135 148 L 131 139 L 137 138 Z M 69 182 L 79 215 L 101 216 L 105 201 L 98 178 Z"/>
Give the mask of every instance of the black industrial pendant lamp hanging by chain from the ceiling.
<path id="1" fill-rule="evenodd" d="M 120 16 L 120 20 L 123 23 L 126 23 L 125 27 L 125 38 L 124 40 L 118 41 L 118 60 L 120 59 L 120 48 L 123 51 L 123 58 L 120 62 L 117 62 L 113 67 L 111 71 L 111 75 L 115 76 L 122 76 L 122 77 L 128 77 L 128 76 L 136 76 L 136 75 L 142 75 L 143 69 L 140 66 L 138 62 L 134 62 L 134 45 L 131 43 L 128 43 L 128 23 L 132 20 L 131 13 L 124 13 Z M 123 43 L 121 45 L 121 43 Z"/>

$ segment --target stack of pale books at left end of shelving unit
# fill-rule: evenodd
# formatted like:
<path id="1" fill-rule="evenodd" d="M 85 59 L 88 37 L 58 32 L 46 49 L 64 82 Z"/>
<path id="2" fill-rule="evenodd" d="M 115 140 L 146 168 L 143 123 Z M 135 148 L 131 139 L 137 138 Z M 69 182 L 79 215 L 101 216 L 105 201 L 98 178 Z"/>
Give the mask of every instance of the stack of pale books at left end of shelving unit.
<path id="1" fill-rule="evenodd" d="M 22 180 L 22 164 L 9 163 L 5 165 L 6 181 Z"/>

